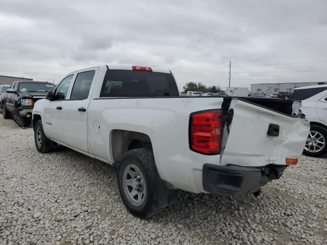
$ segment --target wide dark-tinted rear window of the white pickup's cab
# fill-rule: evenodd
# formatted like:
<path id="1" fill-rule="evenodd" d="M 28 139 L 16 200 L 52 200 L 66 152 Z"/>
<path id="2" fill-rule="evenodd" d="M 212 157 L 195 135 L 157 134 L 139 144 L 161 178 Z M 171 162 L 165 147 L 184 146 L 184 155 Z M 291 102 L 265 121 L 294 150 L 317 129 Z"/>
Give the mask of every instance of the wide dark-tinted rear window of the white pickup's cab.
<path id="1" fill-rule="evenodd" d="M 173 75 L 140 70 L 107 70 L 100 97 L 179 96 Z"/>

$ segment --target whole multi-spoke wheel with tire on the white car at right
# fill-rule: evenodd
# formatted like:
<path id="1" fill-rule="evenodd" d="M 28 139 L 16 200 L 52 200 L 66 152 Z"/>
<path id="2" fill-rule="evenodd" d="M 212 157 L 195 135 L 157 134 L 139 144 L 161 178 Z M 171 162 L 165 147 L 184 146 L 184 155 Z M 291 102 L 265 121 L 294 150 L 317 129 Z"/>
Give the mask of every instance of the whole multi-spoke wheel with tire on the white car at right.
<path id="1" fill-rule="evenodd" d="M 311 125 L 303 153 L 310 157 L 322 157 L 327 154 L 327 129 Z"/>

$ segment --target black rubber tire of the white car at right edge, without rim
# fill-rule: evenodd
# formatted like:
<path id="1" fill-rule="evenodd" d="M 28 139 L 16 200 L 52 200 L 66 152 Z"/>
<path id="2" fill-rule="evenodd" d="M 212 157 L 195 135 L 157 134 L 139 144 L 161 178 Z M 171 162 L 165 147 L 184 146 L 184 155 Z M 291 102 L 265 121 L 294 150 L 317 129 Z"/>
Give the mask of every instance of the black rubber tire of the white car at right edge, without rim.
<path id="1" fill-rule="evenodd" d="M 310 133 L 312 131 L 317 132 L 318 134 L 320 134 L 322 136 L 322 138 L 320 138 L 319 140 L 315 140 L 315 137 L 312 138 L 310 136 L 310 134 L 309 134 L 307 142 L 306 142 L 305 149 L 303 150 L 303 153 L 305 155 L 307 155 L 307 156 L 310 156 L 310 157 L 323 157 L 323 156 L 325 156 L 327 154 L 327 129 L 325 127 L 320 126 L 320 125 L 311 125 L 310 126 Z M 312 133 L 312 135 L 314 135 L 314 133 Z M 320 136 L 318 135 L 316 137 L 320 137 Z M 312 141 L 312 139 L 314 141 Z M 314 149 L 312 149 L 313 147 L 308 145 L 310 140 L 311 140 L 311 142 L 316 143 L 317 146 L 320 146 L 321 150 L 319 150 L 317 152 L 313 152 L 314 151 Z M 319 142 L 324 142 L 324 146 L 322 146 L 323 144 L 319 143 L 318 141 Z M 308 151 L 309 149 L 311 151 Z"/>

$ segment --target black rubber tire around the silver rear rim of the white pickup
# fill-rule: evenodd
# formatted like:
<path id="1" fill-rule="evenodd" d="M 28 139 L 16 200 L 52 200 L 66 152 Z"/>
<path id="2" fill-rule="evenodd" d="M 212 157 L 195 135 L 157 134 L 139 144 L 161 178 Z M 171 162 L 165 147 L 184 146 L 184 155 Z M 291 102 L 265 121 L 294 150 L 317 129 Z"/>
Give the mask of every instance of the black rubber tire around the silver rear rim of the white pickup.
<path id="1" fill-rule="evenodd" d="M 130 166 L 136 166 L 138 170 L 141 170 L 143 177 L 142 184 L 145 190 L 144 200 L 141 205 L 133 204 L 132 201 L 130 201 L 131 197 L 127 193 L 127 191 L 129 192 L 130 190 L 126 188 L 126 185 L 124 184 L 125 169 L 133 169 L 130 168 Z M 136 177 L 134 179 L 132 179 L 132 176 L 130 177 L 132 183 Z M 118 168 L 118 187 L 123 203 L 133 215 L 140 218 L 150 218 L 161 211 L 161 208 L 156 207 L 156 195 L 158 194 L 156 193 L 155 188 L 157 180 L 156 178 L 160 177 L 158 176 L 153 153 L 151 150 L 145 148 L 134 149 L 126 152 L 123 155 Z M 130 193 L 132 191 L 134 191 L 133 187 Z"/>

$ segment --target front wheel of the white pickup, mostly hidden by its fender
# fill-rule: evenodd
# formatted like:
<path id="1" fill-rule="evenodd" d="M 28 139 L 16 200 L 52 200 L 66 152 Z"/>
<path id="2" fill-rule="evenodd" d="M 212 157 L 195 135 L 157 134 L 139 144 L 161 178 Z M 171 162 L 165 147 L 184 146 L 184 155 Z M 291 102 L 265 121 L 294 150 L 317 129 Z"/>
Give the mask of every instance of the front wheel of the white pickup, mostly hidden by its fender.
<path id="1" fill-rule="evenodd" d="M 35 147 L 40 153 L 50 152 L 57 145 L 44 134 L 41 120 L 38 120 L 34 126 L 34 141 Z"/>

